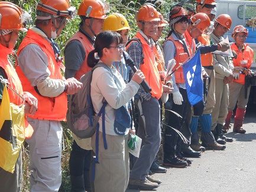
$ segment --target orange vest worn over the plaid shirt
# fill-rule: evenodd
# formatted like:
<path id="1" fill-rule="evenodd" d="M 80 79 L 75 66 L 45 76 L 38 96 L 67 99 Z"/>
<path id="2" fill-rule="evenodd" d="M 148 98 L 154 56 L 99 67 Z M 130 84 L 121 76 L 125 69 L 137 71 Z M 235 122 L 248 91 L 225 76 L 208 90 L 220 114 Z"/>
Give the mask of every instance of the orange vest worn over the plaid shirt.
<path id="1" fill-rule="evenodd" d="M 157 52 L 157 50 L 155 46 L 151 48 L 150 45 L 148 45 L 147 41 L 145 41 L 144 37 L 142 37 L 140 32 L 137 32 L 134 38 L 138 38 L 142 44 L 144 63 L 141 64 L 140 70 L 144 73 L 145 80 L 152 89 L 150 92 L 151 96 L 160 99 L 163 93 L 163 86 L 157 69 L 157 62 L 155 60 L 155 53 Z M 127 48 L 128 47 L 129 45 L 127 45 Z"/>

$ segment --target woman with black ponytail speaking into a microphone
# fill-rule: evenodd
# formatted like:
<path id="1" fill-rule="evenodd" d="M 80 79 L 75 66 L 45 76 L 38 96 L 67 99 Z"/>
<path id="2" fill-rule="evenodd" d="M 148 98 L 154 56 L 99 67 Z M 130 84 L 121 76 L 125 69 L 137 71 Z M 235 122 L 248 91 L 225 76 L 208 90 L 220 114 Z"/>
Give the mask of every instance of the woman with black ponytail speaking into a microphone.
<path id="1" fill-rule="evenodd" d="M 105 108 L 105 133 L 102 133 L 102 117 L 99 119 L 98 147 L 96 135 L 92 136 L 92 149 L 98 149 L 98 161 L 95 167 L 95 191 L 125 191 L 129 178 L 129 154 L 128 154 L 128 128 L 125 135 L 118 135 L 114 131 L 116 119 L 115 109 L 127 106 L 127 103 L 138 92 L 140 83 L 145 79 L 144 74 L 138 70 L 125 84 L 121 74 L 112 65 L 114 61 L 122 58 L 122 37 L 117 32 L 103 31 L 95 40 L 95 49 L 88 54 L 88 66 L 94 67 L 103 63 L 105 67 L 98 67 L 93 71 L 91 82 L 91 97 L 93 109 L 96 113 L 102 107 L 105 98 L 108 105 Z M 95 57 L 95 53 L 97 56 Z M 107 149 L 104 147 L 106 137 Z"/>

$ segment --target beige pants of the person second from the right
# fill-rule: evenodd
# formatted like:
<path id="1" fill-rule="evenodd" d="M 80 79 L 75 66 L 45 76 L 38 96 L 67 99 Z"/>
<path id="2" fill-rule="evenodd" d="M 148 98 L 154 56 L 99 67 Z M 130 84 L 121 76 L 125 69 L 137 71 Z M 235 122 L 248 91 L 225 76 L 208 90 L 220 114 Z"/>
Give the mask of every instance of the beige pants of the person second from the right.
<path id="1" fill-rule="evenodd" d="M 216 104 L 212 109 L 211 131 L 215 129 L 217 123 L 224 125 L 228 113 L 228 84 L 223 83 L 222 79 L 215 79 L 215 84 Z"/>

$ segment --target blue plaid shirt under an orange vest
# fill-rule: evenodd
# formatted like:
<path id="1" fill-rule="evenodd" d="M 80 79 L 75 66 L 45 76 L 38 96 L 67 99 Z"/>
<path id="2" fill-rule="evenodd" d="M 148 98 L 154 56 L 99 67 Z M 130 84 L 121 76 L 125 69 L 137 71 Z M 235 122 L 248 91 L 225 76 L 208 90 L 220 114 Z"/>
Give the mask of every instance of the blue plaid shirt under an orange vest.
<path id="1" fill-rule="evenodd" d="M 147 41 L 148 45 L 150 45 L 152 47 L 153 40 L 150 39 L 150 42 L 149 42 L 148 39 L 145 38 L 145 35 L 143 34 L 143 32 L 140 30 L 139 30 L 139 32 L 144 37 L 145 41 Z M 138 70 L 141 69 L 140 66 L 141 66 L 141 64 L 144 63 L 144 61 L 143 61 L 144 55 L 142 53 L 142 46 L 137 41 L 132 41 L 132 43 L 127 48 L 127 53 L 134 61 L 135 67 L 137 67 Z M 133 71 L 132 71 L 132 75 L 134 75 Z M 142 88 L 142 86 L 140 86 L 137 94 L 140 95 L 142 97 L 142 99 L 145 99 L 145 100 L 150 100 L 150 98 L 151 98 L 151 93 L 146 93 L 144 91 L 144 89 Z"/>

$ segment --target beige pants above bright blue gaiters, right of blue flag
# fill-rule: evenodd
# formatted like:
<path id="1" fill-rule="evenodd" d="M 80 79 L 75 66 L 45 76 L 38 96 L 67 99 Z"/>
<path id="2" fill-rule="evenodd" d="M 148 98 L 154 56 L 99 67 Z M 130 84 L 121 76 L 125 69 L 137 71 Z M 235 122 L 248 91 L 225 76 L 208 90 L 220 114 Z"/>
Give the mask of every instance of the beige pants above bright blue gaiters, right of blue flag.
<path id="1" fill-rule="evenodd" d="M 205 110 L 203 110 L 203 114 L 212 113 L 212 109 L 215 106 L 215 70 L 210 70 L 205 68 L 206 73 L 210 77 L 210 83 L 207 87 L 208 95 L 206 101 Z"/>

